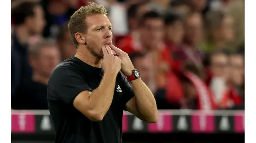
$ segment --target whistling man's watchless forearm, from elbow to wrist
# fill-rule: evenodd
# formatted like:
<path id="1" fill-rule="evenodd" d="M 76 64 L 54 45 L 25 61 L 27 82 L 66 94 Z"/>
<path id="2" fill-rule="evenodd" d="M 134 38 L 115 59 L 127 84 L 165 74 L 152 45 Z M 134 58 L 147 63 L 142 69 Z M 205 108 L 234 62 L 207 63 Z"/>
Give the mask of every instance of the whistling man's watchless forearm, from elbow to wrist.
<path id="1" fill-rule="evenodd" d="M 104 116 L 109 110 L 114 95 L 116 76 L 105 73 L 99 87 L 89 95 L 89 102 L 95 113 Z"/>

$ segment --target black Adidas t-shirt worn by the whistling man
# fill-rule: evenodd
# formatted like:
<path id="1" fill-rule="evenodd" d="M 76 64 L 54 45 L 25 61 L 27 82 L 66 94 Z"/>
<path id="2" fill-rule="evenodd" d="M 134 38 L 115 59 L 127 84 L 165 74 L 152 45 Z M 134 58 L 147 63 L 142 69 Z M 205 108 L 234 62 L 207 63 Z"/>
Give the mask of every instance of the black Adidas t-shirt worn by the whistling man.
<path id="1" fill-rule="evenodd" d="M 134 92 L 119 72 L 110 109 L 100 122 L 93 122 L 73 106 L 84 90 L 98 88 L 104 71 L 76 57 L 68 58 L 52 72 L 48 104 L 56 131 L 56 143 L 121 143 L 122 115 Z"/>

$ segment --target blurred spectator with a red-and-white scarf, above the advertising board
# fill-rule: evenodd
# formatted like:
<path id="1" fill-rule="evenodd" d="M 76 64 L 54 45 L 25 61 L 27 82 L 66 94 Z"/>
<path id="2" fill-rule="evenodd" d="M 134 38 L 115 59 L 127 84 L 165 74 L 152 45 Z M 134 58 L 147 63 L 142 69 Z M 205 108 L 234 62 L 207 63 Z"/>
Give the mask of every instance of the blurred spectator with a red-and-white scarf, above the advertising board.
<path id="1" fill-rule="evenodd" d="M 185 109 L 217 109 L 211 89 L 200 78 L 202 70 L 196 65 L 187 64 L 180 72 L 184 98 L 181 105 Z"/>

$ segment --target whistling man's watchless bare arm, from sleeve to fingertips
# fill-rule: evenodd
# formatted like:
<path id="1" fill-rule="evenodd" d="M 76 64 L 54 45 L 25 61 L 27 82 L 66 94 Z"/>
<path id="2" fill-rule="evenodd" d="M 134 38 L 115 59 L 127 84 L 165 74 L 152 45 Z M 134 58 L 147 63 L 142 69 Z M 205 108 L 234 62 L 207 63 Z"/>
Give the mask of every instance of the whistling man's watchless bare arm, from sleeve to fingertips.
<path id="1" fill-rule="evenodd" d="M 121 60 L 114 56 L 110 47 L 102 46 L 104 76 L 97 89 L 84 91 L 73 101 L 74 107 L 93 121 L 101 121 L 112 103 L 117 73 L 121 69 Z"/>

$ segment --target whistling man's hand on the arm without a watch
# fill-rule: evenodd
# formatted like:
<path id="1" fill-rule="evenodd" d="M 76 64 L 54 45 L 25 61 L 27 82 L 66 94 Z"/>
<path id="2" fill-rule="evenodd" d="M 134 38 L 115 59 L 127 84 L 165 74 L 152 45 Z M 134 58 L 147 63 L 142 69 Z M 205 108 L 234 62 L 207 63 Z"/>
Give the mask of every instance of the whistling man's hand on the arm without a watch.
<path id="1" fill-rule="evenodd" d="M 113 55 L 109 46 L 102 46 L 102 52 L 103 60 L 101 62 L 101 66 L 104 70 L 104 73 L 111 73 L 117 75 L 121 69 L 121 59 Z"/>

